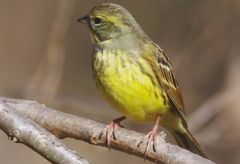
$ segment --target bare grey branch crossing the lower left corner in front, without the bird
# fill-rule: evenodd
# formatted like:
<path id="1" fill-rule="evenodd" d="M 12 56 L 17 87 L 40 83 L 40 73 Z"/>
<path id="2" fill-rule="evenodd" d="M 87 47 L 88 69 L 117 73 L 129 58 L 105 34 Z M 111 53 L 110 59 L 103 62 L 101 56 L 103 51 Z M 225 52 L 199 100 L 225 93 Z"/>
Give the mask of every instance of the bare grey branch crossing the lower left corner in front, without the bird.
<path id="1" fill-rule="evenodd" d="M 0 128 L 8 135 L 9 139 L 25 144 L 52 163 L 90 164 L 78 152 L 16 111 L 16 108 L 5 100 L 0 99 Z"/>

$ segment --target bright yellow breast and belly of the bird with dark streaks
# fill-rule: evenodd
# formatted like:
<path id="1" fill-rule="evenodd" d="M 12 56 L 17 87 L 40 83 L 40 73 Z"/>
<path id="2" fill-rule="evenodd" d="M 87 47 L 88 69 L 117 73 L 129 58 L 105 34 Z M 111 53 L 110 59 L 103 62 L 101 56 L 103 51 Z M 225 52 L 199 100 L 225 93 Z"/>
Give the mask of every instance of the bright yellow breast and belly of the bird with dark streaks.
<path id="1" fill-rule="evenodd" d="M 140 56 L 107 50 L 93 56 L 93 76 L 106 101 L 136 122 L 156 121 L 168 110 L 168 96 Z"/>

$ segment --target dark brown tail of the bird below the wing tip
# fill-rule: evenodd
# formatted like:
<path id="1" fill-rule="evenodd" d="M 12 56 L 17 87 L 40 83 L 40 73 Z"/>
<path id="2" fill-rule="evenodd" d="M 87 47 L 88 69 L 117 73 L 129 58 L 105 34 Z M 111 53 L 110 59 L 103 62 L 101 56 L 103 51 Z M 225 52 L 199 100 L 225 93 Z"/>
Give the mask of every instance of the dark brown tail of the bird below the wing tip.
<path id="1" fill-rule="evenodd" d="M 180 133 L 177 131 L 172 132 L 173 137 L 177 141 L 178 145 L 184 149 L 191 151 L 192 153 L 198 154 L 206 159 L 208 159 L 206 153 L 197 143 L 196 139 L 193 137 L 191 132 L 185 128 L 186 133 Z"/>

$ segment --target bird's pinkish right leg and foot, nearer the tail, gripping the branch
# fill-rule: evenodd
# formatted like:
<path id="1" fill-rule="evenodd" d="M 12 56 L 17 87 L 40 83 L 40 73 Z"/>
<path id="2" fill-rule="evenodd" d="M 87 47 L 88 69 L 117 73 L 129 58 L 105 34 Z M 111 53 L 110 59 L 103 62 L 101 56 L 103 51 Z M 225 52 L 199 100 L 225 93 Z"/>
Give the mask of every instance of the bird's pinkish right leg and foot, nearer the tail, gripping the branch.
<path id="1" fill-rule="evenodd" d="M 143 143 L 143 141 L 145 139 L 148 139 L 147 147 L 144 152 L 144 158 L 146 157 L 146 155 L 148 153 L 148 149 L 149 149 L 151 142 L 153 142 L 153 151 L 156 152 L 156 139 L 157 139 L 157 135 L 158 135 L 158 125 L 159 125 L 160 120 L 161 120 L 161 116 L 158 116 L 156 124 L 153 126 L 152 130 L 146 136 L 144 136 L 138 144 L 138 147 L 139 147 L 140 144 Z"/>

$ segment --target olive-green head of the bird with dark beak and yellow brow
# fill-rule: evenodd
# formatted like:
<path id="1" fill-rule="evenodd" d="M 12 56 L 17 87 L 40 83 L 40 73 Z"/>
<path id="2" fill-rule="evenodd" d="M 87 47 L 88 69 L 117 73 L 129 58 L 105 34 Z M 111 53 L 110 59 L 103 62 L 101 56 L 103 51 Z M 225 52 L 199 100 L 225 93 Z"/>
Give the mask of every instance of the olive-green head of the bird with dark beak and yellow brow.
<path id="1" fill-rule="evenodd" d="M 94 43 L 116 39 L 135 31 L 143 33 L 125 8 L 112 3 L 104 3 L 94 7 L 89 15 L 78 19 L 78 21 L 88 25 Z"/>

